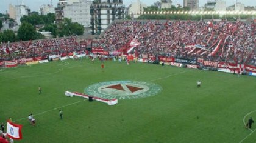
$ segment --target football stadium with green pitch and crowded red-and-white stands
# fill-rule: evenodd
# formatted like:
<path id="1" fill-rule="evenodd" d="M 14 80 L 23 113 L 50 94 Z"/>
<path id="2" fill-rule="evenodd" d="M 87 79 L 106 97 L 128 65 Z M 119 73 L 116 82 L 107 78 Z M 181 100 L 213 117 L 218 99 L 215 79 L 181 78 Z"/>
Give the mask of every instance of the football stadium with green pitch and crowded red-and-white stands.
<path id="1" fill-rule="evenodd" d="M 256 142 L 256 21 L 120 20 L 0 44 L 15 142 Z M 16 140 L 17 139 L 17 140 Z"/>

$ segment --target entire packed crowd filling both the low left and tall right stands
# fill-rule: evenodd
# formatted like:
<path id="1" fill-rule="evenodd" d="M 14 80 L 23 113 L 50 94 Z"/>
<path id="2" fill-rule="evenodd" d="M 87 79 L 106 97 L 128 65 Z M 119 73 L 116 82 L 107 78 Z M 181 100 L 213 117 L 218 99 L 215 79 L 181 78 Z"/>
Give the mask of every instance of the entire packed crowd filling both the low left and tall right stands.
<path id="1" fill-rule="evenodd" d="M 132 53 L 256 65 L 254 22 L 124 21 L 114 23 L 93 43 L 119 52 L 139 45 Z M 91 40 L 47 39 L 0 44 L 0 61 L 79 52 L 94 46 Z M 6 54 L 9 53 L 9 54 Z"/>

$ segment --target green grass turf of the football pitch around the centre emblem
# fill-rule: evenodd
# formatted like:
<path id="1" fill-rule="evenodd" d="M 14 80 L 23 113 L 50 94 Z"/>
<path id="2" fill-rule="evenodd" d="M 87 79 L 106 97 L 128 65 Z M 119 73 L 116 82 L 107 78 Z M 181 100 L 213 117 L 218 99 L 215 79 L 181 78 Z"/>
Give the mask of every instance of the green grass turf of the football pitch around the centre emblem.
<path id="1" fill-rule="evenodd" d="M 124 80 L 154 82 L 162 91 L 113 106 L 64 96 L 67 90 L 83 93 L 91 84 Z M 0 122 L 11 116 L 23 124 L 23 140 L 15 142 L 26 143 L 240 142 L 251 133 L 243 118 L 256 110 L 255 77 L 113 61 L 105 62 L 104 72 L 99 61 L 89 60 L 2 69 L 0 94 Z M 35 127 L 27 121 L 29 113 L 35 115 Z M 256 112 L 249 116 L 256 121 Z M 256 142 L 256 133 L 243 142 Z"/>

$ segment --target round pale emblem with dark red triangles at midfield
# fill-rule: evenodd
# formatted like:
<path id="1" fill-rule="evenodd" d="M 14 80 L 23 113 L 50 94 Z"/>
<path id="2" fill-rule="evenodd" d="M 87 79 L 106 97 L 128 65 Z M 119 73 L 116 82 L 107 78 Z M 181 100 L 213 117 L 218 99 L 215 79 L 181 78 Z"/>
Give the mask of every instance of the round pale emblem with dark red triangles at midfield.
<path id="1" fill-rule="evenodd" d="M 85 93 L 106 99 L 136 99 L 157 95 L 162 88 L 143 81 L 100 82 L 85 88 Z"/>

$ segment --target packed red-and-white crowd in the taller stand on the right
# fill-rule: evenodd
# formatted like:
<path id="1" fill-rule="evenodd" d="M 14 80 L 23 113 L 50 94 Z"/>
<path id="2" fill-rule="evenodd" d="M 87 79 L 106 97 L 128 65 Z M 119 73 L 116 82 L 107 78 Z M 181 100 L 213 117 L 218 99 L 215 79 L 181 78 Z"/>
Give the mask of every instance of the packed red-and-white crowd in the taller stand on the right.
<path id="1" fill-rule="evenodd" d="M 141 54 L 252 63 L 255 35 L 256 24 L 246 22 L 125 21 L 108 28 L 99 42 L 111 51 L 136 40 Z"/>

